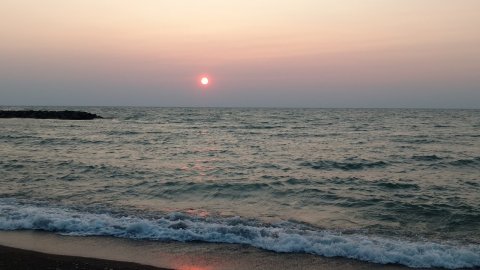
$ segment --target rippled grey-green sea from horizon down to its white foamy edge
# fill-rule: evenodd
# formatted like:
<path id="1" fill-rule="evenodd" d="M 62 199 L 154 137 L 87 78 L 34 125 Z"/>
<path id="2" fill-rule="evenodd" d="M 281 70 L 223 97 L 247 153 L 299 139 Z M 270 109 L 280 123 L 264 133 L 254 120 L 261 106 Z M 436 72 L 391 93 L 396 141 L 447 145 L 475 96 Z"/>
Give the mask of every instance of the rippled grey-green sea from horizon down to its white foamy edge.
<path id="1" fill-rule="evenodd" d="M 479 110 L 68 109 L 0 119 L 0 230 L 480 266 Z"/>

